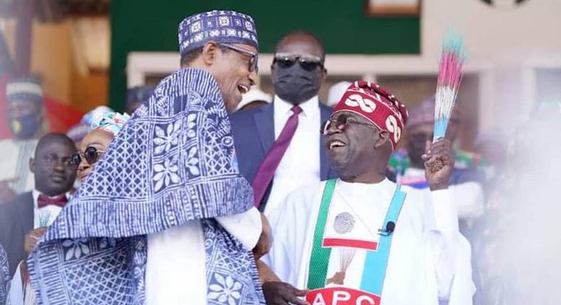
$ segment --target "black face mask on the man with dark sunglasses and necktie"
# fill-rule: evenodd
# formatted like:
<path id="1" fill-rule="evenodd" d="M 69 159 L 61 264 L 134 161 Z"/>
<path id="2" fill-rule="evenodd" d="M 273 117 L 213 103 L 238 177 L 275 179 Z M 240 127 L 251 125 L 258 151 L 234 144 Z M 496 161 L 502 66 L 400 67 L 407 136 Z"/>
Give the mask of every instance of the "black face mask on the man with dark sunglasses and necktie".
<path id="1" fill-rule="evenodd" d="M 298 64 L 288 68 L 276 65 L 274 73 L 275 93 L 290 104 L 298 105 L 320 91 L 321 79 L 317 69 L 307 71 Z"/>

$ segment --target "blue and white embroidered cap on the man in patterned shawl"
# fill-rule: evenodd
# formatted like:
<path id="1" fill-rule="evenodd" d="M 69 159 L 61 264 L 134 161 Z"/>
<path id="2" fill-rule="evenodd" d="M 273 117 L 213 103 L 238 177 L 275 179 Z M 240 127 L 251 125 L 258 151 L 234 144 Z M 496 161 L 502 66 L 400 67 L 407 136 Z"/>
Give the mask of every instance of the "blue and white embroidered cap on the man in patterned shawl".
<path id="1" fill-rule="evenodd" d="M 236 11 L 207 11 L 189 16 L 179 23 L 178 38 L 182 56 L 209 41 L 244 43 L 259 49 L 254 19 Z"/>

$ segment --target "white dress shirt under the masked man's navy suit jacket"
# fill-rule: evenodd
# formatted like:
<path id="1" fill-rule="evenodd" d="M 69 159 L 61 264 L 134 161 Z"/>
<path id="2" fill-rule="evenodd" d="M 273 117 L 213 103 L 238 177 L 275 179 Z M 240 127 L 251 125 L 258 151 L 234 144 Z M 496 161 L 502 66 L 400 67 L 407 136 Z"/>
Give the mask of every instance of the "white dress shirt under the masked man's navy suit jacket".
<path id="1" fill-rule="evenodd" d="M 294 105 L 275 96 L 275 139 L 293 114 Z M 320 102 L 317 96 L 299 105 L 298 128 L 273 177 L 265 214 L 275 210 L 285 197 L 305 184 L 320 182 Z"/>

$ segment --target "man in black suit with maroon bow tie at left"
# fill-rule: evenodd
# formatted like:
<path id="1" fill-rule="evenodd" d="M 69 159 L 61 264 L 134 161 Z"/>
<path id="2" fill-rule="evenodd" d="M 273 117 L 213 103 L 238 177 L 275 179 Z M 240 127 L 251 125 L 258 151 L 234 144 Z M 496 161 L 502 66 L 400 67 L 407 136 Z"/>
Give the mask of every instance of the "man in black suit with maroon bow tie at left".
<path id="1" fill-rule="evenodd" d="M 74 142 L 62 133 L 40 138 L 29 169 L 35 175 L 33 192 L 23 193 L 0 204 L 0 244 L 8 256 L 10 277 L 16 267 L 33 250 L 37 240 L 62 206 L 66 204 L 76 179 Z"/>

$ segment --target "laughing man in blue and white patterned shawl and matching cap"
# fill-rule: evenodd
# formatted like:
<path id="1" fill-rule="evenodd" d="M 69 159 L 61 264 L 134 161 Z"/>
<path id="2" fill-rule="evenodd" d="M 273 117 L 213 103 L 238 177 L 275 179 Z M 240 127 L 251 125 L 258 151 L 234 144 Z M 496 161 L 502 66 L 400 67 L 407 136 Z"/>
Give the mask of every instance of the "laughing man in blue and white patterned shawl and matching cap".
<path id="1" fill-rule="evenodd" d="M 180 23 L 179 43 L 182 68 L 28 259 L 39 304 L 264 304 L 251 250 L 263 253 L 267 238 L 227 114 L 256 82 L 255 24 L 198 13 Z"/>

